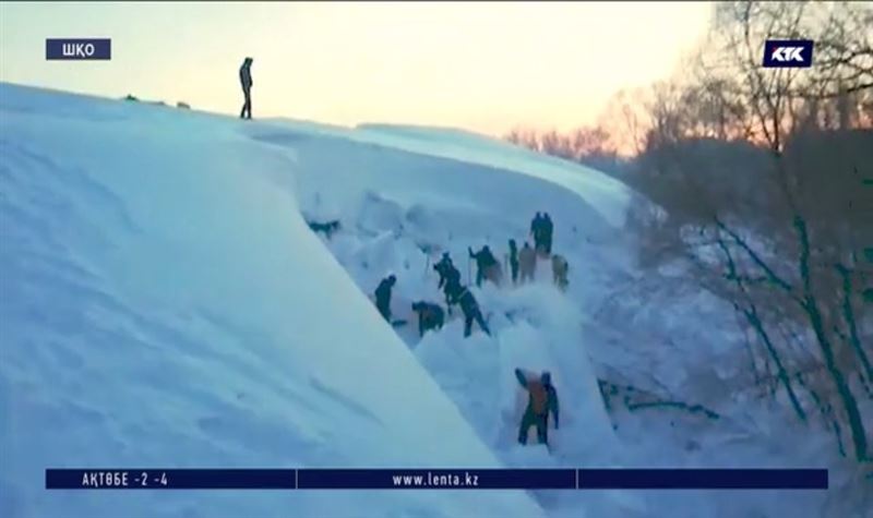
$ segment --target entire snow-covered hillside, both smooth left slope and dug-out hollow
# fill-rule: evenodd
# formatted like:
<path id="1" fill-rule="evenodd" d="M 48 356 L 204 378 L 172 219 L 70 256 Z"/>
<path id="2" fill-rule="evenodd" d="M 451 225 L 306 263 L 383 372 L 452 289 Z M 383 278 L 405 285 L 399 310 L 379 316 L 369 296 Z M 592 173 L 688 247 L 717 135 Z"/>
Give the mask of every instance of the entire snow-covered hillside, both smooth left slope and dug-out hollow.
<path id="1" fill-rule="evenodd" d="M 823 492 L 46 492 L 46 467 L 835 463 L 827 436 L 727 396 L 742 337 L 722 304 L 626 294 L 647 281 L 623 227 L 634 196 L 597 171 L 454 130 L 9 84 L 0 146 L 0 516 L 864 516 Z M 570 288 L 546 262 L 533 285 L 475 288 L 493 337 L 463 339 L 454 317 L 419 339 L 368 300 L 393 272 L 411 322 L 412 301 L 443 300 L 443 251 L 467 282 L 467 248 L 502 258 L 537 210 Z M 515 368 L 552 372 L 551 454 L 515 442 Z M 623 394 L 607 409 L 603 387 L 718 417 Z"/>

